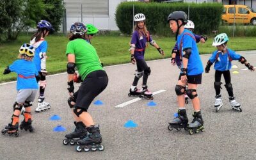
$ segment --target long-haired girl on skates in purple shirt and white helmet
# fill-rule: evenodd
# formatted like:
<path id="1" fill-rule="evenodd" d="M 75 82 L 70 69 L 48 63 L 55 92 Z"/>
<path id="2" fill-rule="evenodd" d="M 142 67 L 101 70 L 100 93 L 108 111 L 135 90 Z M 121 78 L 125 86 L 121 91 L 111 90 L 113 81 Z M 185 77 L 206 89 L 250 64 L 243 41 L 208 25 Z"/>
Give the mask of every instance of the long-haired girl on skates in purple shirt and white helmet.
<path id="1" fill-rule="evenodd" d="M 148 90 L 147 80 L 150 75 L 150 67 L 148 67 L 145 59 L 145 49 L 147 43 L 156 47 L 157 51 L 164 56 L 164 51 L 161 49 L 147 31 L 146 27 L 146 17 L 142 13 L 138 13 L 134 16 L 135 26 L 134 32 L 131 39 L 131 62 L 133 65 L 137 65 L 136 74 L 134 81 L 130 88 L 129 96 L 140 96 L 143 99 L 153 99 L 152 92 Z M 138 81 L 140 77 L 143 77 L 142 91 L 137 88 Z"/>

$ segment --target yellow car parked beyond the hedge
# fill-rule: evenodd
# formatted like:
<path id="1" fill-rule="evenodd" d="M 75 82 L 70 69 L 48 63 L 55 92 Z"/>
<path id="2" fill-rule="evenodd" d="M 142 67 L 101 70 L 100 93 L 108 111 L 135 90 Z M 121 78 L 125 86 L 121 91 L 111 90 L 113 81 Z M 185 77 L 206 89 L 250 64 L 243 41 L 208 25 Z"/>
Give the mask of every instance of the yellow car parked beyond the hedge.
<path id="1" fill-rule="evenodd" d="M 256 12 L 244 5 L 236 5 L 236 8 L 235 5 L 224 5 L 221 18 L 222 22 L 228 24 L 235 21 L 235 23 L 256 25 Z"/>

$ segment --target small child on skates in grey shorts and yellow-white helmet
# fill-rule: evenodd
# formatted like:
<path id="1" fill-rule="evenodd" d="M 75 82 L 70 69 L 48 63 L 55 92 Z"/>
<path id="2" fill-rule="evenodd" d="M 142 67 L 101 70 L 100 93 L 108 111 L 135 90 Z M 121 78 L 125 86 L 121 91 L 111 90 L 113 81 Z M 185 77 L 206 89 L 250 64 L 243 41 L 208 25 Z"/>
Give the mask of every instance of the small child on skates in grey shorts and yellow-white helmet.
<path id="1" fill-rule="evenodd" d="M 20 124 L 20 129 L 29 130 L 33 132 L 31 106 L 33 100 L 35 100 L 36 92 L 38 90 L 38 84 L 36 83 L 36 76 L 38 72 L 35 64 L 33 63 L 33 56 L 35 54 L 35 48 L 30 44 L 23 44 L 19 50 L 20 60 L 16 60 L 12 65 L 6 67 L 3 74 L 9 74 L 10 72 L 17 73 L 17 96 L 16 101 L 13 104 L 12 122 L 2 130 L 2 134 L 14 134 L 19 136 L 19 116 L 22 106 L 25 108 L 24 120 Z"/>

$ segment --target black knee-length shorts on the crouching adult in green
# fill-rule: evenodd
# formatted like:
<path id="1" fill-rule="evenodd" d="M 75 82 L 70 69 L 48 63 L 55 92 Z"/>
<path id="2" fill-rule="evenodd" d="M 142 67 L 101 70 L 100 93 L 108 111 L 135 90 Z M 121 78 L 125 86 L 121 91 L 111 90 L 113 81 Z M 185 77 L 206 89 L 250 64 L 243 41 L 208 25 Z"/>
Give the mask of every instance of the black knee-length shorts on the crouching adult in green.
<path id="1" fill-rule="evenodd" d="M 104 70 L 96 70 L 88 74 L 77 94 L 77 108 L 88 109 L 92 100 L 108 86 L 108 76 Z"/>

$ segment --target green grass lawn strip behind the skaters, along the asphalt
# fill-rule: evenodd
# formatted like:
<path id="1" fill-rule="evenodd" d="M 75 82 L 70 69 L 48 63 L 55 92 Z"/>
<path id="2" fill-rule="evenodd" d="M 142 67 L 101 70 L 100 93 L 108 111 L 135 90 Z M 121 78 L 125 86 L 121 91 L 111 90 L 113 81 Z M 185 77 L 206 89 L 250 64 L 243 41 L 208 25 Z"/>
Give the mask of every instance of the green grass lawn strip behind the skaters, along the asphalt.
<path id="1" fill-rule="evenodd" d="M 6 42 L 0 44 L 0 73 L 3 73 L 4 68 L 17 60 L 19 47 L 23 43 L 29 42 L 30 36 L 19 36 L 15 42 Z M 170 58 L 170 52 L 175 44 L 175 38 L 156 37 L 153 36 L 157 44 L 164 50 L 164 58 Z M 66 70 L 67 58 L 65 50 L 68 43 L 68 38 L 65 36 L 50 35 L 46 38 L 49 48 L 47 51 L 47 71 L 49 74 L 55 74 Z M 92 40 L 92 45 L 97 49 L 100 60 L 104 65 L 115 65 L 119 63 L 128 63 L 130 59 L 129 42 L 131 36 L 118 35 L 99 35 Z M 209 54 L 215 50 L 212 47 L 212 37 L 209 37 L 205 44 L 198 44 L 200 54 Z M 255 37 L 237 37 L 230 38 L 228 47 L 235 51 L 246 51 L 256 49 Z M 163 58 L 159 52 L 151 45 L 148 45 L 146 60 L 156 60 Z M 15 80 L 14 73 L 3 75 L 0 74 L 0 82 Z"/>

